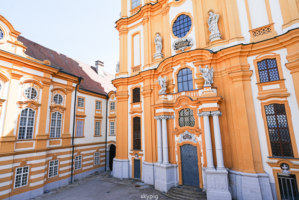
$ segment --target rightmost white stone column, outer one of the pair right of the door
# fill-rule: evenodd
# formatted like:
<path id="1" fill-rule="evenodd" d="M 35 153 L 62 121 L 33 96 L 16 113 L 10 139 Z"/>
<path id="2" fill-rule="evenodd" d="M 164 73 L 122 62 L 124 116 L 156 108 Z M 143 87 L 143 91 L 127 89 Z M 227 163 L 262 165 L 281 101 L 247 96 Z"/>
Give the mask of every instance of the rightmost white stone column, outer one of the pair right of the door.
<path id="1" fill-rule="evenodd" d="M 213 124 L 214 124 L 217 169 L 225 169 L 224 162 L 223 162 L 222 142 L 221 142 L 220 125 L 219 125 L 219 116 L 221 115 L 222 112 L 220 111 L 211 112 L 211 116 L 213 116 Z"/>

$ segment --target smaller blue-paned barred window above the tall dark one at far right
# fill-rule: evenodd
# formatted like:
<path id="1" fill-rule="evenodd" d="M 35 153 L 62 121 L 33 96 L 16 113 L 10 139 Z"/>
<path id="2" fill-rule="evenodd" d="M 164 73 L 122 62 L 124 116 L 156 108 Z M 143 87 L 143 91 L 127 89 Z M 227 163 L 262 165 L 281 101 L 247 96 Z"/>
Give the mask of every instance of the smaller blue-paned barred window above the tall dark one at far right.
<path id="1" fill-rule="evenodd" d="M 260 82 L 269 82 L 279 80 L 276 59 L 265 59 L 257 62 L 260 75 Z"/>

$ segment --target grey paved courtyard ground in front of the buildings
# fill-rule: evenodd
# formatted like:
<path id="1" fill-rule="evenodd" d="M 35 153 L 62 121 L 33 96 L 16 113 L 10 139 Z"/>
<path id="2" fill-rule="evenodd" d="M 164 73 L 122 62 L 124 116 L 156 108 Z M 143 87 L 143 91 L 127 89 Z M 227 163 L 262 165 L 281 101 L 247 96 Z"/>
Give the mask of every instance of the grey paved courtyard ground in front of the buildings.
<path id="1" fill-rule="evenodd" d="M 137 186 L 137 187 L 135 187 Z M 158 196 L 157 196 L 158 195 Z M 141 198 L 142 196 L 142 198 Z M 73 184 L 50 190 L 31 200 L 98 200 L 98 199 L 159 199 L 170 200 L 153 185 L 144 184 L 138 179 L 109 178 L 108 172 L 89 175 Z"/>

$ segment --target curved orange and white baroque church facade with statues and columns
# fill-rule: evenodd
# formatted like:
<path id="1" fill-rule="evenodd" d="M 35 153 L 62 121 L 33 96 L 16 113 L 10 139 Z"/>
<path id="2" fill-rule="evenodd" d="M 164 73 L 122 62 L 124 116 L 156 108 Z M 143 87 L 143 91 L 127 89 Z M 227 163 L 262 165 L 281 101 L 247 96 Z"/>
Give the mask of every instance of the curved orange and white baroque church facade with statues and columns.
<path id="1" fill-rule="evenodd" d="M 113 176 L 297 199 L 299 2 L 122 0 Z M 121 141 L 121 143 L 119 142 Z"/>

